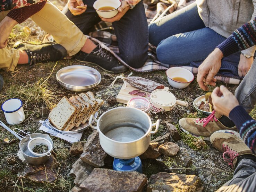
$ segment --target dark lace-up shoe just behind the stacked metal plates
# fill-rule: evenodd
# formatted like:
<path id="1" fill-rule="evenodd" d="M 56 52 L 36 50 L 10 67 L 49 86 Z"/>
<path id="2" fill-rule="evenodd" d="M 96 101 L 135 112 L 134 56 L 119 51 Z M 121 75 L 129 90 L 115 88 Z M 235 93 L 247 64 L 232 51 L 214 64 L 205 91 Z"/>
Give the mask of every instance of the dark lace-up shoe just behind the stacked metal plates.
<path id="1" fill-rule="evenodd" d="M 75 59 L 82 63 L 95 64 L 103 70 L 111 73 L 122 73 L 128 69 L 126 66 L 121 64 L 118 59 L 116 59 L 110 52 L 103 49 L 100 45 L 97 45 L 97 47 L 91 53 L 79 51 L 75 55 Z"/>

